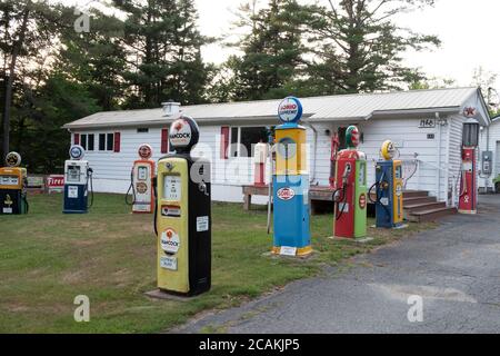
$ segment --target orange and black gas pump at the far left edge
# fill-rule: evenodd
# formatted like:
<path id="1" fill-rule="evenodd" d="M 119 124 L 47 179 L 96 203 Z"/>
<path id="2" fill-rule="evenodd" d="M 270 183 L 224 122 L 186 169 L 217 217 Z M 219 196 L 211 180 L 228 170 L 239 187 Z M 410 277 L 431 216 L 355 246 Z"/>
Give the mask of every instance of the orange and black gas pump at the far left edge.
<path id="1" fill-rule="evenodd" d="M 28 174 L 20 168 L 21 156 L 10 152 L 6 157 L 7 167 L 0 168 L 0 215 L 28 214 Z"/>

